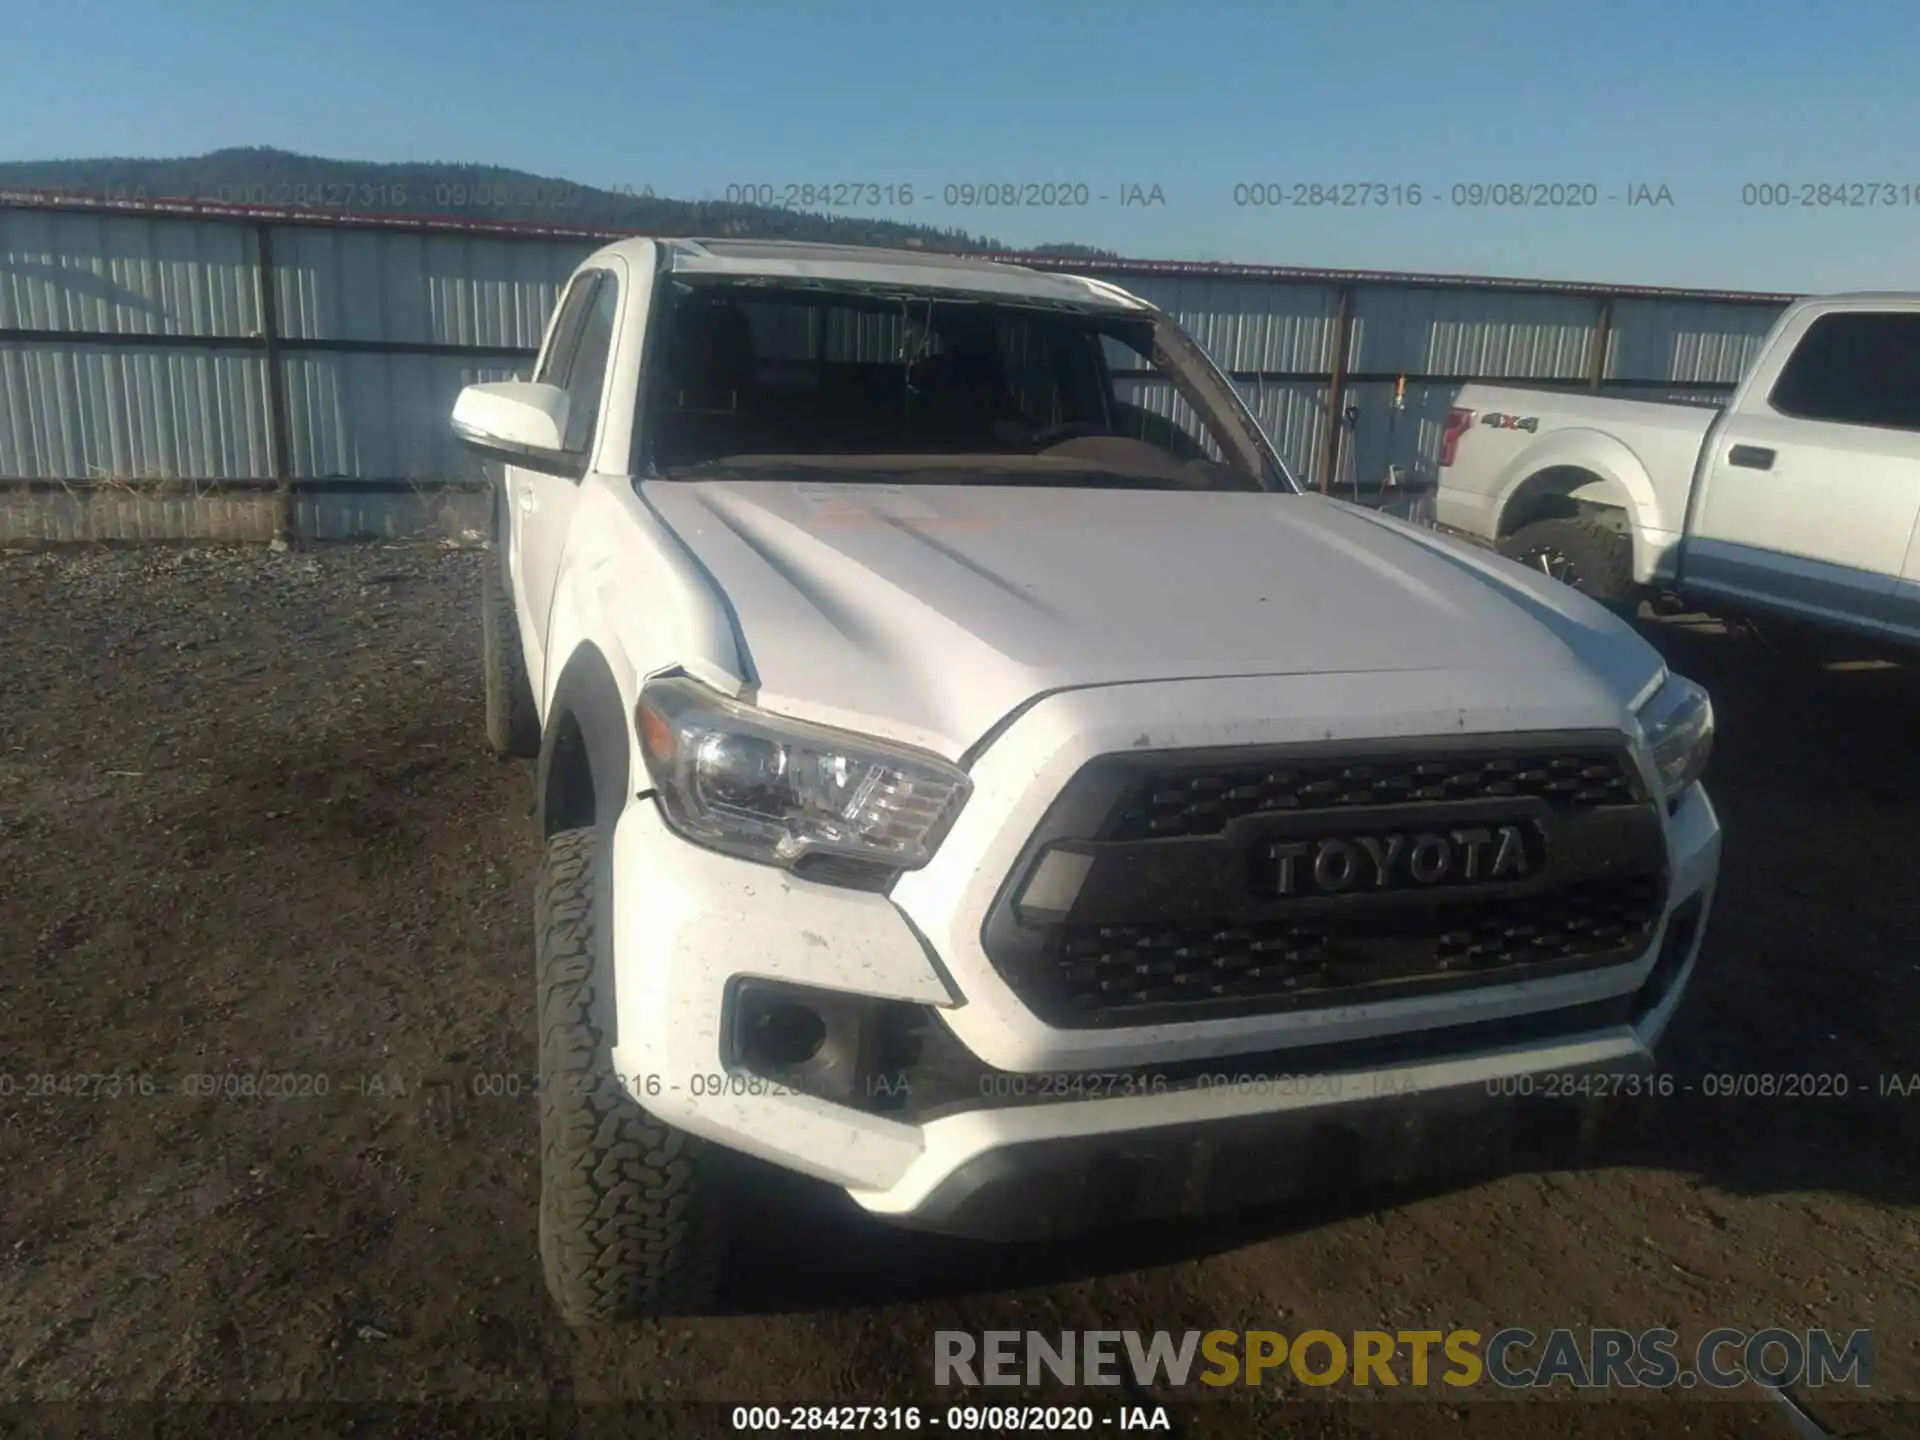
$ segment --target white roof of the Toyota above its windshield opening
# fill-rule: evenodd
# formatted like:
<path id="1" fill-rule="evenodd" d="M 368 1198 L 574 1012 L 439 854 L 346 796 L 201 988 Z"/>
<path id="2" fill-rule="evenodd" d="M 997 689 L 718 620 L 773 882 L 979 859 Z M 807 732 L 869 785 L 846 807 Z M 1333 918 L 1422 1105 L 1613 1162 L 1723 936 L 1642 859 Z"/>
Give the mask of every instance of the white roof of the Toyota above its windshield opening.
<path id="1" fill-rule="evenodd" d="M 664 252 L 666 269 L 676 275 L 732 275 L 770 280 L 841 280 L 847 284 L 893 284 L 912 290 L 956 290 L 1010 300 L 1039 300 L 1092 309 L 1148 309 L 1146 301 L 1116 284 L 1083 275 L 1033 271 L 1025 265 L 979 255 L 941 255 L 925 250 L 881 250 L 877 246 L 831 246 L 808 240 L 707 240 L 660 238 L 618 240 L 597 255 L 620 255 L 636 265 L 651 265 L 653 246 Z"/>

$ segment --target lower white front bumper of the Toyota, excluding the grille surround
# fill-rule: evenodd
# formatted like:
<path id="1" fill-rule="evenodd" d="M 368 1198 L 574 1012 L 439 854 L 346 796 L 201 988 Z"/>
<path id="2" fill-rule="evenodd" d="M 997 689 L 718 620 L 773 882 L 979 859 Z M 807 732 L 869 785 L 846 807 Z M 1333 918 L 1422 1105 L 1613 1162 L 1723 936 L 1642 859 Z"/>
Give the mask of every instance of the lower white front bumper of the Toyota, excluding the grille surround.
<path id="1" fill-rule="evenodd" d="M 1670 835 L 1668 920 L 1640 964 L 1619 968 L 1609 1000 L 1494 1023 L 1436 1012 L 1427 1027 L 1371 1044 L 1296 1046 L 1298 1060 L 1242 1044 L 1210 1060 L 1212 1083 L 1198 1089 L 1110 1085 L 1102 1098 L 981 1104 L 904 1123 L 743 1083 L 722 1064 L 724 995 L 753 975 L 945 1018 L 956 987 L 924 935 L 883 895 L 687 845 L 643 799 L 614 831 L 614 1068 L 660 1119 L 943 1233 L 1054 1235 L 1390 1181 L 1465 1158 L 1513 1125 L 1580 1129 L 1590 1106 L 1548 1100 L 1645 1092 L 1636 1077 L 1655 1064 L 1713 904 L 1720 829 L 1701 789 L 1672 814 Z M 1046 1087 L 1043 1071 L 1023 1073 Z M 1605 1079 L 1572 1081 L 1580 1075 Z M 1521 1089 L 1530 1094 L 1507 1094 Z"/>

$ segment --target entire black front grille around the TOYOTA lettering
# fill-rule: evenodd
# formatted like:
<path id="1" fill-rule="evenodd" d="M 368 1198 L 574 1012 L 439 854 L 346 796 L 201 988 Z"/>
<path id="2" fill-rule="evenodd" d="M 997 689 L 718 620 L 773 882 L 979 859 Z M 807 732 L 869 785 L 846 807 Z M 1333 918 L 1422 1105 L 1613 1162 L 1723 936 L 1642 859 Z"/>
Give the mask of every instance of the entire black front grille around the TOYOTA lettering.
<path id="1" fill-rule="evenodd" d="M 1534 835 L 1534 860 L 1338 893 L 1277 887 L 1263 864 L 1490 829 Z M 1050 851 L 1071 864 L 1041 883 Z M 1630 962 L 1667 879 L 1665 826 L 1620 735 L 1106 755 L 1048 808 L 981 943 L 1046 1023 L 1177 1023 Z"/>

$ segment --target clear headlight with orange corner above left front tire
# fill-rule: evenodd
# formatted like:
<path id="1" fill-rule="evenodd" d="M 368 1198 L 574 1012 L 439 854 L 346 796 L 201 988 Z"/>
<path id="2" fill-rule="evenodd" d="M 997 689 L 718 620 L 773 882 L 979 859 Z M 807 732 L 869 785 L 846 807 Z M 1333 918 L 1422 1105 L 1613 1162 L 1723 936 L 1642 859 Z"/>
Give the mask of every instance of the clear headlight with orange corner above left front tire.
<path id="1" fill-rule="evenodd" d="M 822 879 L 866 885 L 924 866 L 972 789 L 939 756 L 768 714 L 693 680 L 649 682 L 634 720 L 674 829 Z"/>

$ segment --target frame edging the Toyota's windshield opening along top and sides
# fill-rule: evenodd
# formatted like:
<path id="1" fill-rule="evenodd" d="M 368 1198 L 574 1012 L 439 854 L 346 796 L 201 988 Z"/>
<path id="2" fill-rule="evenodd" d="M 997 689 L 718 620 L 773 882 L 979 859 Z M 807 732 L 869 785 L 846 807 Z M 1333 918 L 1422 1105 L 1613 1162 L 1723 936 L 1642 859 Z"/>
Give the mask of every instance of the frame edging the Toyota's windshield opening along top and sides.
<path id="1" fill-rule="evenodd" d="M 1192 407 L 1200 417 L 1202 424 L 1213 434 L 1219 445 L 1227 451 L 1233 465 L 1244 470 L 1263 492 L 1277 493 L 1300 493 L 1300 484 L 1286 470 L 1273 444 L 1267 440 L 1260 422 L 1254 419 L 1252 409 L 1235 390 L 1233 382 L 1213 365 L 1208 353 L 1194 342 L 1181 324 L 1156 305 L 1139 301 L 1137 307 L 1123 307 L 1119 303 L 1102 305 L 1098 301 L 1089 301 L 1085 305 L 1071 301 L 1058 301 L 1046 298 L 1021 298 L 1006 296 L 993 290 L 973 290 L 966 284 L 862 284 L 858 280 L 822 280 L 806 276 L 783 276 L 783 275 L 684 275 L 670 269 L 660 269 L 655 275 L 653 298 L 647 313 L 647 338 L 641 348 L 641 374 L 639 374 L 639 403 L 634 411 L 634 436 L 630 468 L 636 478 L 641 480 L 697 480 L 699 474 L 676 472 L 672 468 L 662 468 L 653 453 L 653 434 L 657 426 L 653 424 L 655 407 L 659 401 L 660 374 L 662 367 L 655 363 L 660 353 L 662 338 L 668 334 L 674 311 L 682 300 L 693 292 L 710 290 L 776 290 L 776 292 L 795 292 L 795 290 L 814 290 L 822 294 L 849 294 L 849 296 L 870 296 L 870 298 L 895 298 L 906 301 L 948 301 L 948 303 L 979 303 L 1000 309 L 1037 309 L 1054 311 L 1066 315 L 1079 315 L 1098 326 L 1104 319 L 1114 321 L 1144 321 L 1152 328 L 1154 353 L 1142 355 L 1142 363 L 1160 372 L 1162 382 L 1169 382 L 1173 392 Z M 1135 298 L 1139 300 L 1139 298 Z M 1137 374 L 1129 371 L 1117 371 L 1116 374 Z M 795 459 L 831 459 L 831 457 L 795 457 Z M 705 478 L 710 478 L 705 476 Z M 1116 486 L 1119 488 L 1119 486 Z"/>

